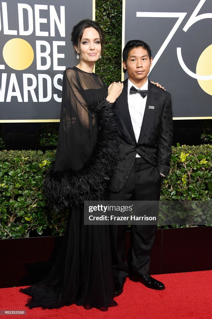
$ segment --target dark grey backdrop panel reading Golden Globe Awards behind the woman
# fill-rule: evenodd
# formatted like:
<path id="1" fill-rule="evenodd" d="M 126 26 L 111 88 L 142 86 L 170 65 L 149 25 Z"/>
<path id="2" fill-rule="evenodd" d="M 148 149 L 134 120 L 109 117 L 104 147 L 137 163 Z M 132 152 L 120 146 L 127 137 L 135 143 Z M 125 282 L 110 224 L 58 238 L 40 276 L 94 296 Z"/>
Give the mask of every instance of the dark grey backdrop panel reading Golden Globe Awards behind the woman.
<path id="1" fill-rule="evenodd" d="M 95 19 L 95 1 L 0 2 L 0 122 L 59 121 L 63 71 L 77 64 L 71 31 L 82 19 Z"/>

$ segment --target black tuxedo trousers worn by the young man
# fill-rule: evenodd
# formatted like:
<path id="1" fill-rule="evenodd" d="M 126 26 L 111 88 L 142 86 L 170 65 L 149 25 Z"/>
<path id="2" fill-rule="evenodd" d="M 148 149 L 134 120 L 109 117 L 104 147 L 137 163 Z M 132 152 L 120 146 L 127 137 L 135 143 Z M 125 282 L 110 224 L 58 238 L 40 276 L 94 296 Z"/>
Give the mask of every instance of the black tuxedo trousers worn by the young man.
<path id="1" fill-rule="evenodd" d="M 118 192 L 109 191 L 109 200 L 145 200 L 159 201 L 161 192 L 161 174 L 156 166 L 142 157 L 135 158 L 133 168 L 124 187 Z M 159 202 L 158 202 L 159 203 Z M 158 207 L 153 207 L 152 215 L 157 216 Z M 155 225 L 132 225 L 132 261 L 131 267 L 125 262 L 125 238 L 127 226 L 110 226 L 113 271 L 115 277 L 127 277 L 129 272 L 136 275 L 147 274 L 150 266 L 150 254 L 155 239 Z"/>

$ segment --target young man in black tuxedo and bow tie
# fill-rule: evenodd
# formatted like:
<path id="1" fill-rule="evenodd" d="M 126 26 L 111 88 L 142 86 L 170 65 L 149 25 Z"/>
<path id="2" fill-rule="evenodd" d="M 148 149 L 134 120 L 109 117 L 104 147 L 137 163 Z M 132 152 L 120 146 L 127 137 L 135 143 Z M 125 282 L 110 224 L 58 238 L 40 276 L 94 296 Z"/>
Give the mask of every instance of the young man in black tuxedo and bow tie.
<path id="1" fill-rule="evenodd" d="M 128 73 L 128 78 L 114 103 L 121 143 L 120 160 L 109 186 L 109 200 L 159 201 L 161 177 L 169 172 L 173 132 L 171 96 L 147 79 L 151 65 L 151 50 L 147 43 L 128 41 L 123 50 L 123 70 Z M 149 288 L 165 288 L 148 274 L 156 225 L 133 225 L 132 231 L 129 270 L 125 262 L 126 227 L 111 227 L 116 296 L 122 293 L 128 275 L 131 280 Z"/>

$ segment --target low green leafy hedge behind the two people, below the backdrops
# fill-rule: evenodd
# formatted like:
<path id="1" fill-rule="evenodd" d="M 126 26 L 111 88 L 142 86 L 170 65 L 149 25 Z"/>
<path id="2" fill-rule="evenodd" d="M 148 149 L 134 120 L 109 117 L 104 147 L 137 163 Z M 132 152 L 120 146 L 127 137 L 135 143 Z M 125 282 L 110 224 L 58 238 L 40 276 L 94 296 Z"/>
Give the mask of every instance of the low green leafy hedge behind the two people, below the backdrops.
<path id="1" fill-rule="evenodd" d="M 54 151 L 0 152 L 1 238 L 64 234 L 67 212 L 52 211 L 42 195 L 44 170 Z M 203 200 L 212 194 L 212 146 L 173 147 L 170 174 L 163 179 L 161 200 Z M 196 220 L 201 221 L 197 213 Z M 206 225 L 211 225 L 208 220 Z M 159 225 L 166 226 L 163 214 Z M 173 225 L 178 227 L 178 225 Z"/>

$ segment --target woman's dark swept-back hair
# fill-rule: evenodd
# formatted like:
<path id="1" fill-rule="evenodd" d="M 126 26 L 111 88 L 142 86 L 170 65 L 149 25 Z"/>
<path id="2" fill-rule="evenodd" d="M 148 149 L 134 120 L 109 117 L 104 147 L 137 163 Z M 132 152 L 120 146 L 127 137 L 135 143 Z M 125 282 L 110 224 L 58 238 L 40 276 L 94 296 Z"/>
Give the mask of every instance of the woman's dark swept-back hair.
<path id="1" fill-rule="evenodd" d="M 86 28 L 94 28 L 99 33 L 101 48 L 103 49 L 105 37 L 102 28 L 100 27 L 98 22 L 89 19 L 82 20 L 73 27 L 71 34 L 71 41 L 73 46 L 77 46 L 79 48 L 79 43 Z"/>

